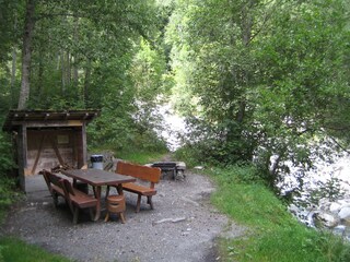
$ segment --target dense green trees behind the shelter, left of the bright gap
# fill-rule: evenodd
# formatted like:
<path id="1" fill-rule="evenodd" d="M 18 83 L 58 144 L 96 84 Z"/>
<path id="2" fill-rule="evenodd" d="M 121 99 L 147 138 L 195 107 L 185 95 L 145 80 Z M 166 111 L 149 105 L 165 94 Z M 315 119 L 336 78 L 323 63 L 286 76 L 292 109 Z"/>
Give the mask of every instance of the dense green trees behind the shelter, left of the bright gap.
<path id="1" fill-rule="evenodd" d="M 154 1 L 4 0 L 0 12 L 3 116 L 9 108 L 101 109 L 90 146 L 164 148 L 154 132 L 166 84 Z"/>

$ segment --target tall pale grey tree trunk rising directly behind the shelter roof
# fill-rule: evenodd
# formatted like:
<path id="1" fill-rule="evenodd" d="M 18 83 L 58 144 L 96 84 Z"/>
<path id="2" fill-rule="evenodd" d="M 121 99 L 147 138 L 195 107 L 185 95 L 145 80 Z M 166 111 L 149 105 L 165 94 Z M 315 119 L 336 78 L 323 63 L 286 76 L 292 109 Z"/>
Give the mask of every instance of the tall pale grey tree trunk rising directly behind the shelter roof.
<path id="1" fill-rule="evenodd" d="M 21 93 L 18 109 L 26 108 L 30 99 L 30 76 L 31 76 L 31 60 L 32 60 L 32 38 L 34 31 L 34 12 L 35 0 L 26 1 L 25 23 L 23 33 L 23 49 L 22 49 L 22 79 L 21 79 Z"/>

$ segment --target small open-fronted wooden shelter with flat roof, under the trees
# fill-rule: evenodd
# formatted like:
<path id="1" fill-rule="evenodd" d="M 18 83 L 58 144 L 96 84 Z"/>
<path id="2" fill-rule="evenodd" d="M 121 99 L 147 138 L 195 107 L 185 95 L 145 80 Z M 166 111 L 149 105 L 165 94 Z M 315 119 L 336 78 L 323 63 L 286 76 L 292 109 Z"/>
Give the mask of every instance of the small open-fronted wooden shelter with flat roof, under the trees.
<path id="1" fill-rule="evenodd" d="M 58 165 L 88 165 L 86 124 L 97 110 L 10 110 L 3 131 L 12 132 L 20 187 L 25 177 Z"/>

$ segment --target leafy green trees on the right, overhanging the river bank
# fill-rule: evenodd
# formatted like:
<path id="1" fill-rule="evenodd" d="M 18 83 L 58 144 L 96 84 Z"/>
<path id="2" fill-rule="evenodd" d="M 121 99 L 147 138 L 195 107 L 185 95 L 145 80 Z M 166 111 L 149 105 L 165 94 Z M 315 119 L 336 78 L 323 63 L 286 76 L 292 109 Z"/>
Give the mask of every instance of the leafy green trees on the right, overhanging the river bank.
<path id="1" fill-rule="evenodd" d="M 255 162 L 273 186 L 285 162 L 310 168 L 347 147 L 347 1 L 176 3 L 174 100 L 203 162 Z"/>

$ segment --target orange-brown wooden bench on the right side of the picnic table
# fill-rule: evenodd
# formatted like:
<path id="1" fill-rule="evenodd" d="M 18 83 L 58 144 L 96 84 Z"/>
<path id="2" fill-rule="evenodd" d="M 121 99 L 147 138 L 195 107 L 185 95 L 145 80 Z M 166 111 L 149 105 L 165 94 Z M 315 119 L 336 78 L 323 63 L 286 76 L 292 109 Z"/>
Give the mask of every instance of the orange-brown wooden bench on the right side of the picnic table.
<path id="1" fill-rule="evenodd" d="M 122 190 L 138 194 L 136 212 L 140 212 L 142 195 L 147 196 L 147 203 L 151 206 L 151 210 L 153 210 L 152 196 L 156 194 L 154 186 L 160 181 L 162 170 L 158 167 L 148 167 L 126 162 L 118 162 L 116 172 L 135 177 L 139 180 L 139 182 L 122 183 Z M 107 187 L 107 195 L 108 192 L 109 187 Z"/>

